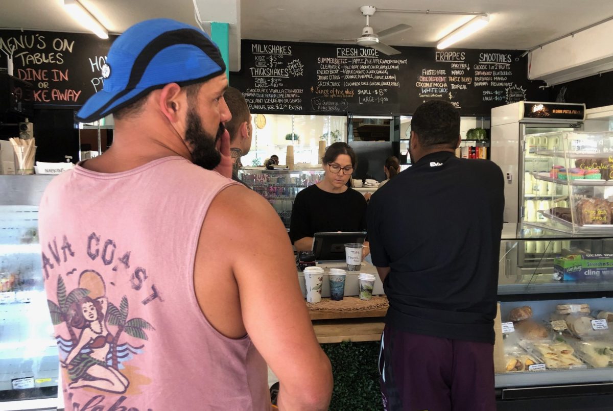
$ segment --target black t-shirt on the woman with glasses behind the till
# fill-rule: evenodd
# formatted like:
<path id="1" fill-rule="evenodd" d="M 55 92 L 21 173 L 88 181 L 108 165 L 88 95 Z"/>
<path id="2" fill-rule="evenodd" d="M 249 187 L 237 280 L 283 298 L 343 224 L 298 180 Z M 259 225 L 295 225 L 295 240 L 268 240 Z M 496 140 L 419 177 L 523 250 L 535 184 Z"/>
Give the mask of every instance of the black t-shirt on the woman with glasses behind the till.
<path id="1" fill-rule="evenodd" d="M 289 224 L 292 243 L 314 233 L 366 230 L 366 200 L 356 190 L 334 194 L 318 186 L 307 187 L 296 195 Z"/>

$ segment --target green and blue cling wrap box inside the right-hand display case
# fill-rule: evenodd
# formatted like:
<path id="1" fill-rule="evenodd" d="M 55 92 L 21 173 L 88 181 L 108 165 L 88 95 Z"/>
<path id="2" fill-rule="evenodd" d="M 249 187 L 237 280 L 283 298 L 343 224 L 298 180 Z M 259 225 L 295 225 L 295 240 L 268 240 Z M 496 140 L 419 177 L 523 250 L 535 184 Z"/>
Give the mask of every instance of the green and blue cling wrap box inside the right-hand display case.
<path id="1" fill-rule="evenodd" d="M 554 278 L 561 281 L 612 281 L 613 254 L 569 254 L 554 258 Z"/>

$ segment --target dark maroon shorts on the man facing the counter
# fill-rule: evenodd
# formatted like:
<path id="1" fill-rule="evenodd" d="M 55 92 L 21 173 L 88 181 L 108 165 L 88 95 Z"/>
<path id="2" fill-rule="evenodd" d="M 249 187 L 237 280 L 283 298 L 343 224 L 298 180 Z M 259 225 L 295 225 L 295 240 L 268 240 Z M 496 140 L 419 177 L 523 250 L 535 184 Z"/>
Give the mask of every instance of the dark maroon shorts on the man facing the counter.
<path id="1" fill-rule="evenodd" d="M 387 326 L 379 353 L 386 411 L 495 411 L 493 345 Z"/>

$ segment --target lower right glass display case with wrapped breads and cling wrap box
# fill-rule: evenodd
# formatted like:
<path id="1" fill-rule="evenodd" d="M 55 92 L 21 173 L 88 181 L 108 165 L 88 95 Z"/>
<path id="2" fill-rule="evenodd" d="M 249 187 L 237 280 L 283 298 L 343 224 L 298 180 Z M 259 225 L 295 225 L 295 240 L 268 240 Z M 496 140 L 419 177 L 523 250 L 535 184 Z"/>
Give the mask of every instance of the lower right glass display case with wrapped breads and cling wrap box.
<path id="1" fill-rule="evenodd" d="M 502 399 L 613 393 L 613 231 L 505 224 L 495 381 Z M 528 236 L 527 236 L 528 235 Z M 538 252 L 527 252 L 526 243 Z"/>

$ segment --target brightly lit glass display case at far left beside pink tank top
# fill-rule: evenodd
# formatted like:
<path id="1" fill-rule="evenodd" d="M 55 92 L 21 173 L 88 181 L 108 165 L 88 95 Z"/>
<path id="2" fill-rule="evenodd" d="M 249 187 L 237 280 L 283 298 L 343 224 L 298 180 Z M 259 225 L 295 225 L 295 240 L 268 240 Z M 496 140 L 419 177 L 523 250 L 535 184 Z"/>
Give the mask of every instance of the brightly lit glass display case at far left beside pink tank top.
<path id="1" fill-rule="evenodd" d="M 37 217 L 52 178 L 0 176 L 2 410 L 58 405 L 58 348 L 41 275 Z"/>

